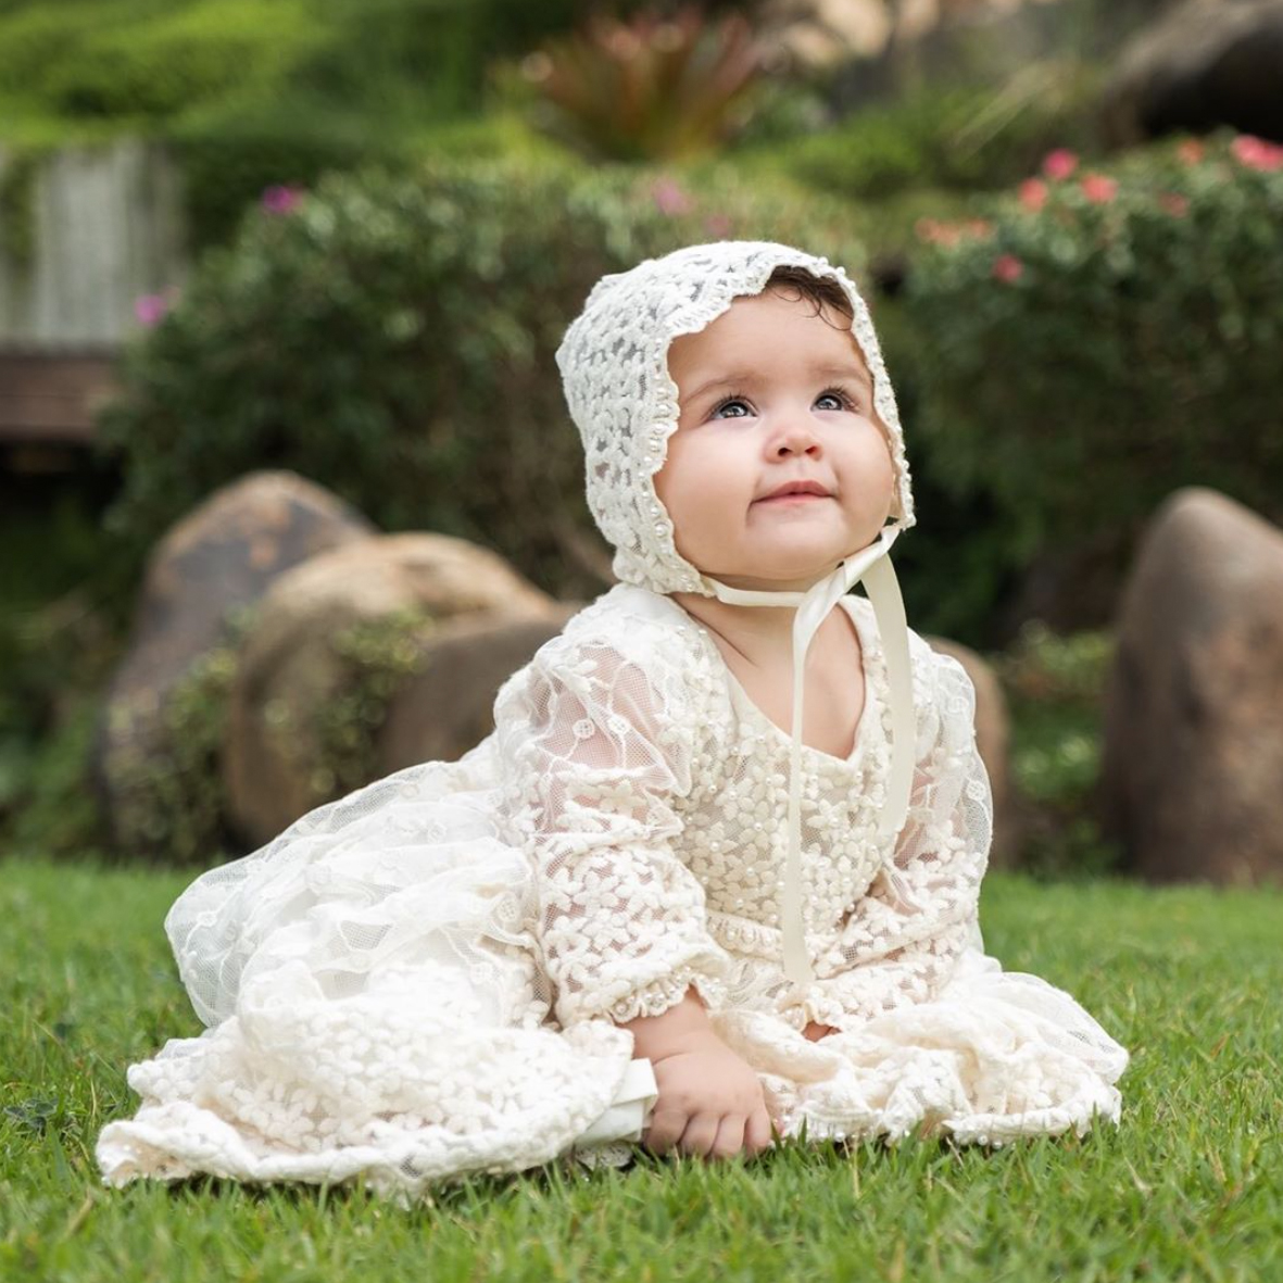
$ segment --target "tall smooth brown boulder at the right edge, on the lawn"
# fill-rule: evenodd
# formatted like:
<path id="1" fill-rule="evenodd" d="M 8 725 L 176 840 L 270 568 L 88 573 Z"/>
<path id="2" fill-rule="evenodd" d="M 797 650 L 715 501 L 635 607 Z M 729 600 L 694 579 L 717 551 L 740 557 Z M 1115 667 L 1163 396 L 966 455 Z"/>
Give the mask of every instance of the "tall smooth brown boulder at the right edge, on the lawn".
<path id="1" fill-rule="evenodd" d="M 1102 821 L 1152 881 L 1283 881 L 1283 534 L 1177 491 L 1128 584 Z"/>

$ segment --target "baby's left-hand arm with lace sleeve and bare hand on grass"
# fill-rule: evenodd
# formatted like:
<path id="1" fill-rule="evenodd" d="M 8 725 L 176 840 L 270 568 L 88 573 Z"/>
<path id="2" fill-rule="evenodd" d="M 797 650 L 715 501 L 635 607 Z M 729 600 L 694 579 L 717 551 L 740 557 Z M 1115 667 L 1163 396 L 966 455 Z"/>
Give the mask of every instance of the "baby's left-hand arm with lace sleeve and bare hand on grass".
<path id="1" fill-rule="evenodd" d="M 495 708 L 503 810 L 534 856 L 556 1014 L 633 1032 L 659 1088 L 650 1148 L 757 1152 L 771 1139 L 761 1083 L 702 1001 L 730 960 L 670 844 L 681 828 L 672 802 L 692 786 L 686 680 L 662 648 L 643 670 L 621 645 L 552 645 Z"/>

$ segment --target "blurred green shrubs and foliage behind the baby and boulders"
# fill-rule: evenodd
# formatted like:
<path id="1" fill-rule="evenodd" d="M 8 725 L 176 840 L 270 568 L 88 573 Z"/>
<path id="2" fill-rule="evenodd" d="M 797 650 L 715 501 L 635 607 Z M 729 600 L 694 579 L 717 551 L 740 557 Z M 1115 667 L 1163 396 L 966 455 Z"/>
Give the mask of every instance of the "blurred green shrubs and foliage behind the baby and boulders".
<path id="1" fill-rule="evenodd" d="M 1091 811 L 1101 630 L 1137 531 L 1192 481 L 1266 514 L 1283 494 L 1268 145 L 1111 153 L 1100 94 L 1143 13 L 1070 0 L 1041 12 L 1038 56 L 1003 64 L 973 40 L 943 60 L 924 42 L 878 68 L 776 68 L 704 154 L 589 163 L 574 131 L 544 128 L 529 71 L 599 10 L 0 0 L 6 235 L 45 150 L 142 133 L 178 158 L 201 253 L 182 298 L 146 300 L 159 321 L 124 357 L 99 457 L 4 495 L 0 842 L 101 844 L 86 761 L 142 557 L 246 468 L 298 468 L 385 529 L 479 539 L 559 595 L 606 586 L 552 352 L 602 272 L 740 235 L 826 253 L 865 286 L 913 466 L 910 616 L 1005 676 L 1035 806 L 1025 863 L 1109 865 Z M 1065 149 L 1074 168 L 1044 173 Z M 1066 662 L 1080 671 L 1057 685 Z M 192 745 L 217 738 L 216 694 L 183 706 Z M 208 775 L 204 752 L 174 779 Z M 212 813 L 196 793 L 162 810 Z"/>

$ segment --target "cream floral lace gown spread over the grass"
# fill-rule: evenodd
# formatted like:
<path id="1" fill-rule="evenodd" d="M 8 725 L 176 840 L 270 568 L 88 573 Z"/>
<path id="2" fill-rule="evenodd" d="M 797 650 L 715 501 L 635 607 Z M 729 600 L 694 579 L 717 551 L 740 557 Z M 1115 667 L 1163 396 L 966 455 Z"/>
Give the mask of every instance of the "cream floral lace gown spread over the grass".
<path id="1" fill-rule="evenodd" d="M 1085 1133 L 1128 1055 L 984 953 L 974 690 L 910 633 L 907 822 L 878 837 L 887 668 L 867 600 L 849 757 L 804 747 L 813 981 L 781 969 L 790 739 L 671 598 L 621 584 L 500 689 L 494 733 L 200 876 L 167 919 L 199 1038 L 130 1069 L 108 1182 L 213 1173 L 414 1194 L 561 1155 L 624 1162 L 657 1093 L 616 1021 L 690 985 L 785 1135 Z M 803 1037 L 808 1021 L 838 1033 Z"/>

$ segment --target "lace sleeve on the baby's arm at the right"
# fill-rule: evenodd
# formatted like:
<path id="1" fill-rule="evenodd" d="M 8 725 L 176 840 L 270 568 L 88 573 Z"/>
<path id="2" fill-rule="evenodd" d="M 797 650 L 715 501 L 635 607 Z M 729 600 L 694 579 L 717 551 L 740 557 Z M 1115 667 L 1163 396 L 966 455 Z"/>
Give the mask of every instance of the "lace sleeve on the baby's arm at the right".
<path id="1" fill-rule="evenodd" d="M 842 1028 L 931 998 L 979 935 L 993 801 L 975 744 L 975 689 L 962 666 L 913 638 L 917 767 L 893 858 L 821 960 L 807 1019 Z"/>

